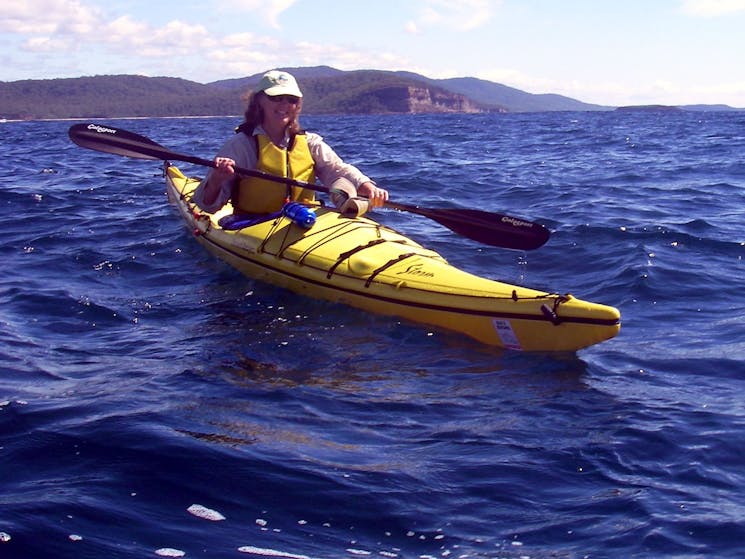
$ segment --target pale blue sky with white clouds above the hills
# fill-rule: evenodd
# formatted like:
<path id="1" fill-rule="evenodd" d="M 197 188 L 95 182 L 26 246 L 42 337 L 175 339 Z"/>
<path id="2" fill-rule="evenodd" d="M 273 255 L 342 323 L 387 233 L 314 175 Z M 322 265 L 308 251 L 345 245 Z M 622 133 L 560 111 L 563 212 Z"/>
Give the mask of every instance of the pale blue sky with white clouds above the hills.
<path id="1" fill-rule="evenodd" d="M 0 81 L 325 65 L 745 108 L 743 55 L 745 0 L 13 0 L 0 13 Z"/>

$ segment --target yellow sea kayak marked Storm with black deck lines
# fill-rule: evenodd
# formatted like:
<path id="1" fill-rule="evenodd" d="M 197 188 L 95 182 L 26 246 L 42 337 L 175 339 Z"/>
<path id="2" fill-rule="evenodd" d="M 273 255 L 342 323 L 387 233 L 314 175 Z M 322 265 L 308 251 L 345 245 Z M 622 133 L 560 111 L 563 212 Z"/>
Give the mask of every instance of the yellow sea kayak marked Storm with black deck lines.
<path id="1" fill-rule="evenodd" d="M 199 179 L 166 164 L 169 199 L 196 239 L 248 277 L 296 293 L 461 332 L 523 351 L 576 351 L 618 334 L 617 309 L 470 274 L 367 217 L 316 209 L 306 229 L 279 215 L 238 230 L 191 201 Z"/>

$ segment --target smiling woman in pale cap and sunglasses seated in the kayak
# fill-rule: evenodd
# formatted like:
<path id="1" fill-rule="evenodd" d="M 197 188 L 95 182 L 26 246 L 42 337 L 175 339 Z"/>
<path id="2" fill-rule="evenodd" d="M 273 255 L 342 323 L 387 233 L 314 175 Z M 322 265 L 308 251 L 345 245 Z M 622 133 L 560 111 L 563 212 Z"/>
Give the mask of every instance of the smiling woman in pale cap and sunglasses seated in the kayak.
<path id="1" fill-rule="evenodd" d="M 295 78 L 278 70 L 267 72 L 249 98 L 245 122 L 215 157 L 212 169 L 195 192 L 194 201 L 214 213 L 228 200 L 236 213 L 279 211 L 288 200 L 312 201 L 309 189 L 284 186 L 255 177 L 238 177 L 236 167 L 259 169 L 272 175 L 331 188 L 331 199 L 344 213 L 359 215 L 366 204 L 382 206 L 388 192 L 378 188 L 353 165 L 344 163 L 318 134 L 300 128 L 303 94 Z"/>

